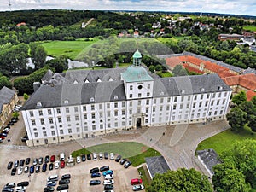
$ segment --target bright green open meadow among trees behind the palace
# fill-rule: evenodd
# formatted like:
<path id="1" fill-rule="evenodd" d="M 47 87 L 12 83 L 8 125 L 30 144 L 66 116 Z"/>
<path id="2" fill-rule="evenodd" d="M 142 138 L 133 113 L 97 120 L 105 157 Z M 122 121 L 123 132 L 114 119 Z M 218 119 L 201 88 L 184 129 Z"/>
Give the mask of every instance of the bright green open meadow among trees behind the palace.
<path id="1" fill-rule="evenodd" d="M 42 45 L 48 55 L 67 55 L 68 58 L 75 60 L 85 48 L 98 41 L 96 38 L 90 39 L 91 41 L 84 41 L 84 38 L 79 38 L 76 41 L 46 41 Z"/>

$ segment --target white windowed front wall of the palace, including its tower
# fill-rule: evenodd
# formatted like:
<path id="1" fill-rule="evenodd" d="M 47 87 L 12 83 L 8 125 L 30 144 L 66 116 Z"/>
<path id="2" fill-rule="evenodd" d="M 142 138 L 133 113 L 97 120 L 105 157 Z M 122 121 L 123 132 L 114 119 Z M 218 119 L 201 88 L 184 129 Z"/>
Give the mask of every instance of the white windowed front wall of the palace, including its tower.
<path id="1" fill-rule="evenodd" d="M 127 69 L 130 73 L 133 70 L 137 68 Z M 60 143 L 140 127 L 208 122 L 224 119 L 227 113 L 232 92 L 227 86 L 225 89 L 218 86 L 211 91 L 201 88 L 196 94 L 181 90 L 179 95 L 170 96 L 172 90 L 166 86 L 166 90 L 158 92 L 154 79 L 148 76 L 141 81 L 140 73 L 139 79 L 132 77 L 130 81 L 124 73 L 121 75 L 126 97 L 121 101 L 118 96 L 113 96 L 113 101 L 108 102 L 95 102 L 90 97 L 91 103 L 73 105 L 64 100 L 63 105 L 45 108 L 42 98 L 37 100 L 34 96 L 22 110 L 29 137 L 27 144 Z M 219 79 L 216 76 L 204 77 Z M 167 94 L 168 91 L 171 94 Z M 38 101 L 37 106 L 29 107 L 34 101 Z"/>

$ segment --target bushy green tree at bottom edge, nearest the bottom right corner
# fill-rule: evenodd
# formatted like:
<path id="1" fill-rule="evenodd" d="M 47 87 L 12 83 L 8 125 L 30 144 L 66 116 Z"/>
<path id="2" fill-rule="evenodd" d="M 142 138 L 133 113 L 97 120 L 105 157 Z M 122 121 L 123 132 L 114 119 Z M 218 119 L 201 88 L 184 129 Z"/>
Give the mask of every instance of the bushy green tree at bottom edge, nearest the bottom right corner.
<path id="1" fill-rule="evenodd" d="M 248 192 L 251 190 L 244 175 L 232 163 L 222 163 L 213 167 L 212 184 L 216 192 Z"/>

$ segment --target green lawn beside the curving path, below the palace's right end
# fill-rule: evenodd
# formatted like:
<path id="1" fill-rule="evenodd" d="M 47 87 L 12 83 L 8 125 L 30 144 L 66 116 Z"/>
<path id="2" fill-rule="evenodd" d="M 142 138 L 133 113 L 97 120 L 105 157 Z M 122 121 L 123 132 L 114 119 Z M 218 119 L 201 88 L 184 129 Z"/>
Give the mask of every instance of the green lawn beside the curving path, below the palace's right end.
<path id="1" fill-rule="evenodd" d="M 231 148 L 233 143 L 247 138 L 256 139 L 256 133 L 249 129 L 241 131 L 227 130 L 199 143 L 197 150 L 213 148 L 218 154 L 221 154 L 224 150 Z"/>

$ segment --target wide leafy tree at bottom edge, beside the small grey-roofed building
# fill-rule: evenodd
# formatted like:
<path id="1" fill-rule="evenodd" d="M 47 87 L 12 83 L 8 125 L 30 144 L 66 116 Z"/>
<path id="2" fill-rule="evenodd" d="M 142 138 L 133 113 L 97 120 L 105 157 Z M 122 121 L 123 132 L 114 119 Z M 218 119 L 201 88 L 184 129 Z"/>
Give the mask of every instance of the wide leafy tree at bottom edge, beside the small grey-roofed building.
<path id="1" fill-rule="evenodd" d="M 148 192 L 158 191 L 189 191 L 189 192 L 212 192 L 212 184 L 201 172 L 192 169 L 178 169 L 177 171 L 168 171 L 163 174 L 157 174 L 150 186 Z"/>

